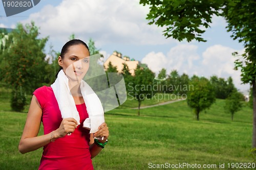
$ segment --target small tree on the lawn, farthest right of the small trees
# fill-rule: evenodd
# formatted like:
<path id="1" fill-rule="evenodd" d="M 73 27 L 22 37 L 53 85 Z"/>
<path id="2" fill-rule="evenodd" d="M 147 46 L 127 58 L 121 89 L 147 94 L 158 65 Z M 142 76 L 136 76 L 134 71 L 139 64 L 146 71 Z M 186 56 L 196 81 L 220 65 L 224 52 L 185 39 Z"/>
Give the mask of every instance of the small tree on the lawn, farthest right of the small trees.
<path id="1" fill-rule="evenodd" d="M 231 120 L 233 121 L 234 113 L 238 112 L 242 108 L 243 94 L 234 90 L 225 101 L 225 110 L 231 113 Z"/>

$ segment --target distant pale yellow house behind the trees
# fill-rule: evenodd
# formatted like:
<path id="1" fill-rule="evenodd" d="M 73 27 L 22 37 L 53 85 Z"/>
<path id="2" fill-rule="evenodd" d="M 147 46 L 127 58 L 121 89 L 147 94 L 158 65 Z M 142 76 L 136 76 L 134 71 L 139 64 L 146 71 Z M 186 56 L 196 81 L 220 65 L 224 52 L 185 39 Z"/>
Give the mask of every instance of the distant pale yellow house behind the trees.
<path id="1" fill-rule="evenodd" d="M 146 67 L 145 64 L 141 64 L 139 61 L 136 61 L 134 59 L 130 60 L 130 57 L 124 56 L 122 57 L 121 53 L 113 52 L 113 54 L 106 59 L 104 62 L 104 68 L 108 69 L 109 62 L 111 62 L 112 65 L 117 67 L 117 71 L 121 72 L 123 69 L 123 63 L 125 63 L 129 67 L 129 72 L 134 75 L 134 70 L 137 68 L 137 65 L 141 65 L 143 67 Z"/>

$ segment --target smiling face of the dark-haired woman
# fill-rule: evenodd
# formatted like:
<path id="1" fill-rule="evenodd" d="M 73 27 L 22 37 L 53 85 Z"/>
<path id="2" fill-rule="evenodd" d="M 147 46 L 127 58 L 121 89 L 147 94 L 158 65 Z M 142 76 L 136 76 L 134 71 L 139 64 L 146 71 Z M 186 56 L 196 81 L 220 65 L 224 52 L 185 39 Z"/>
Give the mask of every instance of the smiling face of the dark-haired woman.
<path id="1" fill-rule="evenodd" d="M 72 45 L 63 58 L 58 58 L 58 63 L 70 81 L 80 82 L 89 69 L 89 50 L 82 44 Z"/>

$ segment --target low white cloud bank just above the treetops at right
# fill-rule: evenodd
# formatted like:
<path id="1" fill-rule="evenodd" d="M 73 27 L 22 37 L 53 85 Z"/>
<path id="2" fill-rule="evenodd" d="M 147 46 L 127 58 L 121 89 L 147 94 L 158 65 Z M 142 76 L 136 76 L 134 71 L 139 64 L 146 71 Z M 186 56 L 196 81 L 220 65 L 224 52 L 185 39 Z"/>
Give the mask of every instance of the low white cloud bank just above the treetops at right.
<path id="1" fill-rule="evenodd" d="M 186 73 L 190 77 L 198 75 L 209 78 L 217 75 L 226 79 L 231 76 L 237 88 L 242 91 L 249 88 L 248 85 L 241 85 L 241 71 L 233 69 L 235 58 L 231 54 L 236 50 L 223 45 L 213 45 L 199 55 L 197 48 L 196 45 L 178 44 L 170 48 L 167 55 L 151 52 L 141 62 L 146 63 L 156 73 L 164 67 L 167 73 L 176 69 L 179 74 Z"/>

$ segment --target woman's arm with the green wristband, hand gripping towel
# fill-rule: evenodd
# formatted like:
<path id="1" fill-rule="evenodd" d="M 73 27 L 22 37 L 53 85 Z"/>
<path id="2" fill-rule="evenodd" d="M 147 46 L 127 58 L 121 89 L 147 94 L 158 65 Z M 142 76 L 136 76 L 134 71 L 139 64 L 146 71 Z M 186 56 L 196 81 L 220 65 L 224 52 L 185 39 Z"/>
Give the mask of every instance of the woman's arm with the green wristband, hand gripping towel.
<path id="1" fill-rule="evenodd" d="M 106 139 L 108 139 L 109 137 L 109 127 L 106 125 L 106 123 L 103 123 L 99 126 L 99 130 L 94 133 L 91 134 L 90 136 L 90 152 L 91 152 L 91 158 L 94 158 L 95 156 L 97 156 L 100 151 L 102 150 L 102 148 L 98 147 L 95 143 L 94 143 L 94 137 L 95 136 L 104 136 L 103 140 L 99 140 L 99 142 L 104 143 L 106 141 Z"/>

